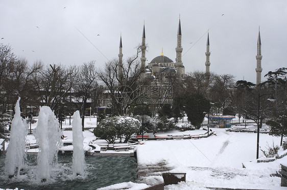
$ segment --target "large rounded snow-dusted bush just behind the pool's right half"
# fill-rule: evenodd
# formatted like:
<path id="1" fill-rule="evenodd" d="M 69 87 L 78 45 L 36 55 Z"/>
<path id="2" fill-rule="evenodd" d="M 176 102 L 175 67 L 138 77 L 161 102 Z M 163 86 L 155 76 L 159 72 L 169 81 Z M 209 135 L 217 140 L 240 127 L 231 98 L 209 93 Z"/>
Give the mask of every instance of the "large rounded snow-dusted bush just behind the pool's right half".
<path id="1" fill-rule="evenodd" d="M 136 118 L 115 116 L 103 119 L 93 133 L 96 137 L 105 139 L 108 143 L 114 143 L 117 139 L 119 139 L 119 142 L 125 139 L 124 143 L 126 143 L 131 135 L 138 133 L 140 129 L 141 123 Z"/>

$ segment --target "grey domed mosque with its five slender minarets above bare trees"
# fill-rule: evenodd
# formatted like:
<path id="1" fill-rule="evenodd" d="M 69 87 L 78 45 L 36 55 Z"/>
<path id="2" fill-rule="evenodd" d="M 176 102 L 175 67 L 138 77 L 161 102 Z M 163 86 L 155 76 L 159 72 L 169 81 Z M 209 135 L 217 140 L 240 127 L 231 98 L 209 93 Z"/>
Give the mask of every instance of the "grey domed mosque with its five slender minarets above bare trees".
<path id="1" fill-rule="evenodd" d="M 161 79 L 162 81 L 168 80 L 168 78 L 173 77 L 176 79 L 184 79 L 186 77 L 185 74 L 185 67 L 182 62 L 182 45 L 181 45 L 181 23 L 179 18 L 178 24 L 178 31 L 177 31 L 177 46 L 176 50 L 176 58 L 173 61 L 171 58 L 164 56 L 163 51 L 161 55 L 153 58 L 148 65 L 146 65 L 146 31 L 145 31 L 145 24 L 143 24 L 143 31 L 142 31 L 142 41 L 141 41 L 141 74 L 140 80 L 144 80 L 146 77 L 154 77 L 155 79 Z M 123 53 L 122 53 L 122 37 L 119 44 L 119 67 L 118 67 L 118 74 L 119 78 L 123 78 Z M 206 42 L 206 61 L 205 61 L 205 75 L 206 77 L 210 76 L 210 51 L 209 51 L 209 32 L 207 33 L 207 42 Z M 261 39 L 260 39 L 260 30 L 258 33 L 258 40 L 257 40 L 257 55 L 256 55 L 256 84 L 261 83 Z"/>

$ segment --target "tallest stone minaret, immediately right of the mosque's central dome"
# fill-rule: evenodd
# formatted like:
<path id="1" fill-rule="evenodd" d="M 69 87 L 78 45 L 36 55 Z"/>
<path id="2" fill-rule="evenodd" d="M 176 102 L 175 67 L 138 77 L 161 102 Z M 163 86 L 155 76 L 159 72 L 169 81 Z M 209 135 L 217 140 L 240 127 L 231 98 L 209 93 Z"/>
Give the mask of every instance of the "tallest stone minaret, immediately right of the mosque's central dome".
<path id="1" fill-rule="evenodd" d="M 180 16 L 179 16 L 179 24 L 178 24 L 178 31 L 177 31 L 177 47 L 175 48 L 176 51 L 176 58 L 175 58 L 175 68 L 177 72 L 177 76 L 180 77 L 182 74 L 185 73 L 184 66 L 181 61 L 181 26 L 180 26 Z"/>

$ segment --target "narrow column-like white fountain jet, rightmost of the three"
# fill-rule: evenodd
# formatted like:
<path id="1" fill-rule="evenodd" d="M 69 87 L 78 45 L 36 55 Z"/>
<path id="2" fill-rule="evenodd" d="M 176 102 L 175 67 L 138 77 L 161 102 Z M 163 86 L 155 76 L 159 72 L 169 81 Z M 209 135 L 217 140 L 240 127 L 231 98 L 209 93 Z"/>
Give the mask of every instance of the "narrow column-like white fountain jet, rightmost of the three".
<path id="1" fill-rule="evenodd" d="M 82 132 L 80 112 L 76 111 L 73 117 L 73 171 L 74 175 L 84 176 L 86 162 L 83 147 L 84 136 Z"/>

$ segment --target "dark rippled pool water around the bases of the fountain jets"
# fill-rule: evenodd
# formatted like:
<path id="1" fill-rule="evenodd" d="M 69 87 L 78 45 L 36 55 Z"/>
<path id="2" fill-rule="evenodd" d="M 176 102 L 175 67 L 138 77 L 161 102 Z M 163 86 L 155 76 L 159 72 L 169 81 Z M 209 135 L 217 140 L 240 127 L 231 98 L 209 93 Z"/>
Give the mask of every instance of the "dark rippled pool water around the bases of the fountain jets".
<path id="1" fill-rule="evenodd" d="M 73 177 L 71 155 L 60 155 L 52 179 L 41 183 L 36 180 L 36 155 L 28 155 L 28 166 L 20 177 L 9 179 L 4 175 L 5 154 L 0 155 L 0 188 L 15 189 L 97 189 L 115 183 L 137 179 L 137 163 L 126 156 L 86 156 L 86 176 Z"/>

